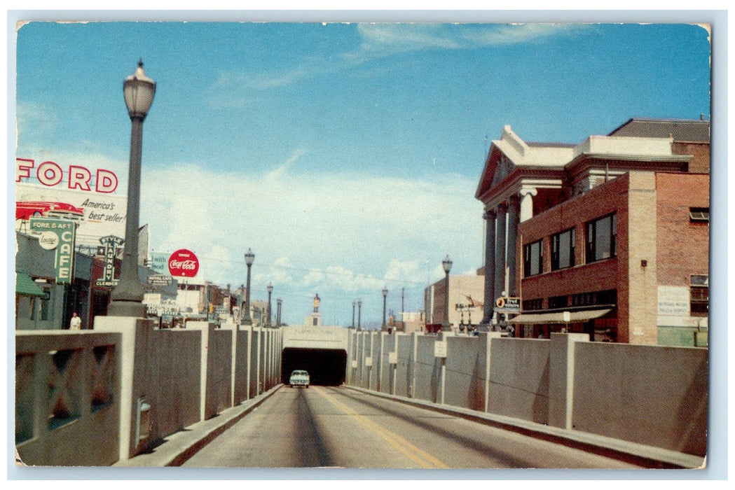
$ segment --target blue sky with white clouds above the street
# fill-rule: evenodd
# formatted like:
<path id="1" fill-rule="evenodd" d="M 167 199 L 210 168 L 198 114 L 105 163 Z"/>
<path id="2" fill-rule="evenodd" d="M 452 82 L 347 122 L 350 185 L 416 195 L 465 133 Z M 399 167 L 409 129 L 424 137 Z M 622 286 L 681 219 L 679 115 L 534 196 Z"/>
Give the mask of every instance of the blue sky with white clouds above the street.
<path id="1" fill-rule="evenodd" d="M 423 308 L 482 265 L 490 140 L 579 143 L 631 117 L 709 119 L 710 45 L 684 24 L 32 23 L 17 35 L 18 156 L 126 176 L 122 81 L 157 82 L 143 136 L 151 251 L 245 281 L 302 323 Z M 62 165 L 63 166 L 63 165 Z M 121 182 L 124 190 L 124 182 Z"/>

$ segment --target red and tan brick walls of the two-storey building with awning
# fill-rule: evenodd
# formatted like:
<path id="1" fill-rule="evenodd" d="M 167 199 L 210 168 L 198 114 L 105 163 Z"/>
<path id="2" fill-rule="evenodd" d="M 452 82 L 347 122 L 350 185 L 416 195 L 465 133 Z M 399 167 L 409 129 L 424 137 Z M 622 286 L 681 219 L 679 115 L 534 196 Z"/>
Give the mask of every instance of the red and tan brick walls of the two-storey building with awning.
<path id="1" fill-rule="evenodd" d="M 615 290 L 613 311 L 570 325 L 571 330 L 593 336 L 610 330 L 617 342 L 656 344 L 658 287 L 689 287 L 690 275 L 709 273 L 709 223 L 692 222 L 690 208 L 709 209 L 709 175 L 633 172 L 521 223 L 517 256 L 523 257 L 523 245 L 539 239 L 543 248 L 542 273 L 523 277 L 519 261 L 517 287 L 524 303 L 540 300 L 536 309 L 553 310 L 549 298 L 568 296 L 572 307 L 574 295 Z M 586 223 L 613 213 L 615 255 L 587 263 Z M 552 271 L 551 237 L 570 228 L 575 231 L 574 266 Z M 563 327 L 536 325 L 533 336 Z M 523 329 L 516 334 L 524 336 Z"/>

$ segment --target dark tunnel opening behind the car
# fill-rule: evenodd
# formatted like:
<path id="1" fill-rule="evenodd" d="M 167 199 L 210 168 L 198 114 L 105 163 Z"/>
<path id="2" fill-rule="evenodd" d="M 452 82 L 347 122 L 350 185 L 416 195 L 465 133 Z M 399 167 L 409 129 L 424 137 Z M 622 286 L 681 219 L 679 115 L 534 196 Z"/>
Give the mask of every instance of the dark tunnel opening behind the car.
<path id="1" fill-rule="evenodd" d="M 293 370 L 309 372 L 312 384 L 339 386 L 345 382 L 347 352 L 337 349 L 286 347 L 281 356 L 281 382 L 288 383 Z"/>

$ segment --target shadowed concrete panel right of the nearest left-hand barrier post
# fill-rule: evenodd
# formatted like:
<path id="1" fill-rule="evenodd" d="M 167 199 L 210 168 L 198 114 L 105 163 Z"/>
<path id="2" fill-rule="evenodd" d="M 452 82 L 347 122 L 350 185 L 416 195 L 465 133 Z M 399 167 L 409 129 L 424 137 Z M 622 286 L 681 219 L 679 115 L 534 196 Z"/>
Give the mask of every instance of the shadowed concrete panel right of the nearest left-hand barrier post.
<path id="1" fill-rule="evenodd" d="M 151 440 L 198 422 L 201 397 L 201 332 L 180 328 L 151 332 Z M 172 355 L 174 353 L 174 355 Z"/>

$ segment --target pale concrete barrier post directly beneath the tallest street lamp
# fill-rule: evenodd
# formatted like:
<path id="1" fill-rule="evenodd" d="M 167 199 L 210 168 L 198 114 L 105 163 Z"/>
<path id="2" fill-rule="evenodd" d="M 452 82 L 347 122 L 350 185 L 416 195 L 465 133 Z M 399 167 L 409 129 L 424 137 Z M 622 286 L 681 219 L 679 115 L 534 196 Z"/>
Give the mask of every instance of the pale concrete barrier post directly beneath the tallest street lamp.
<path id="1" fill-rule="evenodd" d="M 121 400 L 120 400 L 120 460 L 126 461 L 145 449 L 147 441 L 136 439 L 136 423 L 139 400 L 148 394 L 151 351 L 151 332 L 156 324 L 153 320 L 134 317 L 95 317 L 94 330 L 119 332 L 121 342 Z M 150 409 L 156 410 L 156 407 Z"/>

